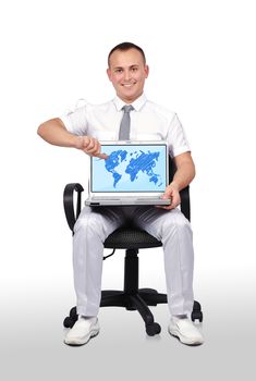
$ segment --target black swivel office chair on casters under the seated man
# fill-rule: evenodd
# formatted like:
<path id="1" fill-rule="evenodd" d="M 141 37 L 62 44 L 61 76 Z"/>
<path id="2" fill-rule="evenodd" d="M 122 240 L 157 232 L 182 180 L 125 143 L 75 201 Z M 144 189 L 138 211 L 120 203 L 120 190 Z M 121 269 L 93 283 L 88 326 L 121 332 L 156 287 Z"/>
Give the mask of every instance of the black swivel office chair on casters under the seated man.
<path id="1" fill-rule="evenodd" d="M 173 177 L 174 163 L 169 161 L 170 179 Z M 81 212 L 81 194 L 83 187 L 78 183 L 68 184 L 64 188 L 64 210 L 68 224 L 73 232 L 75 221 Z M 76 213 L 74 212 L 74 192 L 77 193 Z M 181 211 L 186 219 L 191 220 L 190 208 L 190 188 L 188 186 L 181 190 Z M 161 327 L 154 321 L 154 316 L 148 306 L 157 306 L 158 304 L 167 303 L 167 295 L 160 294 L 153 288 L 138 288 L 138 250 L 142 248 L 160 247 L 162 243 L 145 231 L 135 228 L 132 221 L 110 234 L 103 244 L 105 248 L 112 248 L 113 253 L 118 249 L 125 249 L 124 259 L 124 288 L 123 291 L 102 291 L 100 307 L 115 306 L 125 307 L 127 310 L 137 310 L 144 322 L 146 332 L 149 336 L 160 333 Z M 103 259 L 110 257 L 110 254 Z M 194 302 L 193 311 L 191 315 L 193 321 L 196 319 L 203 321 L 203 312 L 200 304 Z M 70 316 L 63 321 L 65 328 L 72 328 L 77 320 L 76 307 L 70 310 Z"/>

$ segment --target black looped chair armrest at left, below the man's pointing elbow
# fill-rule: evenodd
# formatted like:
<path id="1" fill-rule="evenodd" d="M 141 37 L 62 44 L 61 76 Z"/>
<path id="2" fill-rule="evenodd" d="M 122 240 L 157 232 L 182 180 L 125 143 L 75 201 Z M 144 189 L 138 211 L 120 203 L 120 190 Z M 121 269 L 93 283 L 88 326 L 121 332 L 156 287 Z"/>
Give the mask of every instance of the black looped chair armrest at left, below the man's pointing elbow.
<path id="1" fill-rule="evenodd" d="M 77 192 L 77 199 L 76 199 L 76 213 L 74 212 L 74 190 Z M 73 232 L 74 224 L 80 216 L 81 212 L 81 194 L 84 192 L 83 186 L 80 183 L 71 183 L 66 184 L 63 193 L 63 204 L 64 204 L 64 211 L 65 211 L 65 218 L 66 222 L 70 226 L 70 229 Z"/>

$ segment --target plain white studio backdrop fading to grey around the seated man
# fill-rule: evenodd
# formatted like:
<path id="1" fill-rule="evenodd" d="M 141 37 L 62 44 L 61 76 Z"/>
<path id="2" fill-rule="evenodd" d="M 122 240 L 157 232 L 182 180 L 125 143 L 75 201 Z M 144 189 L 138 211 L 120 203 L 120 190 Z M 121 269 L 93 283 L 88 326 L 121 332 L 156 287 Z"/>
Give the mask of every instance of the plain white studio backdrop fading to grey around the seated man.
<path id="1" fill-rule="evenodd" d="M 134 362 L 137 374 L 148 379 L 157 377 L 158 367 L 164 377 L 193 380 L 208 378 L 209 369 L 217 377 L 220 366 L 235 380 L 251 374 L 255 35 L 249 0 L 10 0 L 0 5 L 0 351 L 7 380 L 49 379 L 49 372 L 62 379 L 119 379 L 127 359 L 129 369 Z M 100 311 L 100 336 L 86 347 L 62 344 L 62 318 L 75 303 L 62 192 L 69 182 L 86 187 L 88 168 L 82 152 L 47 145 L 36 130 L 80 98 L 111 99 L 107 56 L 125 40 L 145 50 L 146 95 L 178 112 L 197 168 L 191 187 L 194 286 L 206 335 L 198 348 L 169 337 L 166 306 L 154 310 L 161 339 L 145 339 L 136 312 L 110 308 Z M 121 288 L 122 272 L 120 250 L 105 263 L 103 288 Z M 164 291 L 160 249 L 142 251 L 141 285 Z"/>

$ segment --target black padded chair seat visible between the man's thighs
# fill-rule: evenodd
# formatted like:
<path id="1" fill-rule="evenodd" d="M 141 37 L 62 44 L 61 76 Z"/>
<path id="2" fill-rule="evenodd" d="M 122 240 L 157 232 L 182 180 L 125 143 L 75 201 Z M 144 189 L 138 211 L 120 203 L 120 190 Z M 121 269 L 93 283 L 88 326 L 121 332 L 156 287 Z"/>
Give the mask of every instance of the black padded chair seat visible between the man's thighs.
<path id="1" fill-rule="evenodd" d="M 133 228 L 120 228 L 108 236 L 106 248 L 139 249 L 162 246 L 162 243 L 147 232 Z"/>

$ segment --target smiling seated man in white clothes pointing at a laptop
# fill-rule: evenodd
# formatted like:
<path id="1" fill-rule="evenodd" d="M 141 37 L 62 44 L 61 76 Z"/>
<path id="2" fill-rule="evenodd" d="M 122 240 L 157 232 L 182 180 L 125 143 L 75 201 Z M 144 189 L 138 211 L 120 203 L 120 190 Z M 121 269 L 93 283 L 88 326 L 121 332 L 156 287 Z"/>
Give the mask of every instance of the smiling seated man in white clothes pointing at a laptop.
<path id="1" fill-rule="evenodd" d="M 130 108 L 131 140 L 167 140 L 176 164 L 173 181 L 163 197 L 171 198 L 167 207 L 85 207 L 74 226 L 73 267 L 78 320 L 69 330 L 64 342 L 83 345 L 99 332 L 97 319 L 100 295 L 103 242 L 124 220 L 136 216 L 136 224 L 163 244 L 168 305 L 171 312 L 170 334 L 187 345 L 204 342 L 202 333 L 190 320 L 193 309 L 193 243 L 188 221 L 176 207 L 179 192 L 195 176 L 195 168 L 182 125 L 175 113 L 148 101 L 144 84 L 149 69 L 144 51 L 123 42 L 108 58 L 107 74 L 117 97 L 107 103 L 86 105 L 62 119 L 52 119 L 38 127 L 48 143 L 81 149 L 105 160 L 99 140 L 118 140 L 124 116 Z"/>

